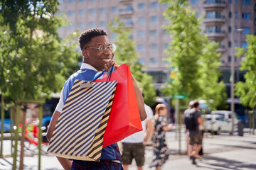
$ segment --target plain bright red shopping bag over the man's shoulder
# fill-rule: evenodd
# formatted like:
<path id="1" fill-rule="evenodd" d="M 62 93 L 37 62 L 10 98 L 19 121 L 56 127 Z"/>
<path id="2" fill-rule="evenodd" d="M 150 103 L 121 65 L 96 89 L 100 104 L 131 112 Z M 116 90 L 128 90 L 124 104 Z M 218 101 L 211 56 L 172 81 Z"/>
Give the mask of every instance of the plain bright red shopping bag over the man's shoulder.
<path id="1" fill-rule="evenodd" d="M 105 82 L 97 79 L 95 82 Z M 110 118 L 103 137 L 103 147 L 123 140 L 142 130 L 139 108 L 132 83 L 129 65 L 122 64 L 111 74 L 110 81 L 117 80 L 117 89 L 110 112 Z"/>

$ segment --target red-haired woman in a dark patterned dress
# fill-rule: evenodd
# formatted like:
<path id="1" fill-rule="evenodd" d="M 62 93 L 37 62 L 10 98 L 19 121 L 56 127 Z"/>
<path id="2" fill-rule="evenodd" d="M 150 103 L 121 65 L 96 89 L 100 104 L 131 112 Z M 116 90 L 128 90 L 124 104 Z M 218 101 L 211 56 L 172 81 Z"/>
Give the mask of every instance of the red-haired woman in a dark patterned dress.
<path id="1" fill-rule="evenodd" d="M 155 108 L 154 115 L 154 135 L 152 138 L 154 147 L 153 162 L 150 167 L 155 167 L 156 170 L 161 169 L 161 166 L 169 158 L 169 148 L 166 145 L 166 131 L 173 128 L 172 124 L 167 124 L 167 107 L 164 104 L 158 104 Z"/>

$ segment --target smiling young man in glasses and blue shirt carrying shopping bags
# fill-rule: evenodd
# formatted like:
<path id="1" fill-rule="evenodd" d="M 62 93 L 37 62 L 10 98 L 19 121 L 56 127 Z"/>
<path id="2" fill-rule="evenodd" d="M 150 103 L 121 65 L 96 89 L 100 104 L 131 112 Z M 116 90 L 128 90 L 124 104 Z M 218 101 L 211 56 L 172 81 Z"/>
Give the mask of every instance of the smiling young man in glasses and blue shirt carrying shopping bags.
<path id="1" fill-rule="evenodd" d="M 58 117 L 63 109 L 65 100 L 68 98 L 68 94 L 73 86 L 75 79 L 90 81 L 95 76 L 100 74 L 101 71 L 107 71 L 114 64 L 113 58 L 115 45 L 112 44 L 107 38 L 107 33 L 104 30 L 98 28 L 86 30 L 80 35 L 79 45 L 80 49 L 82 50 L 83 63 L 80 70 L 75 74 L 71 75 L 63 86 L 60 101 L 58 103 L 58 106 L 55 108 L 52 119 L 50 120 L 50 125 L 47 132 L 47 138 L 49 141 L 52 137 Z M 115 65 L 115 69 L 117 69 L 117 67 L 118 66 Z M 139 107 L 140 118 L 141 120 L 144 120 L 146 118 L 146 112 L 144 110 L 144 100 L 137 81 L 134 79 L 133 76 L 132 81 L 134 84 L 134 91 Z M 100 157 L 100 162 L 89 162 L 80 160 L 70 161 L 62 157 L 57 157 L 57 159 L 64 169 L 123 169 L 122 158 L 117 143 L 104 147 L 102 149 L 102 156 Z"/>

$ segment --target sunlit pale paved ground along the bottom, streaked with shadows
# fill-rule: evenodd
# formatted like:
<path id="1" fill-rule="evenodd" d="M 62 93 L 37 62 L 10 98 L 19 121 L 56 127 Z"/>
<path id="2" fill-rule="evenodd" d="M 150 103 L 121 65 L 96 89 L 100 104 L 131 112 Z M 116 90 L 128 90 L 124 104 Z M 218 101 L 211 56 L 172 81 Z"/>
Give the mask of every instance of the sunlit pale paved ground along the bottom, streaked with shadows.
<path id="1" fill-rule="evenodd" d="M 205 136 L 203 138 L 203 159 L 197 160 L 197 165 L 191 164 L 186 156 L 186 139 L 184 132 L 181 136 L 181 154 L 178 154 L 178 140 L 176 131 L 166 132 L 166 140 L 171 150 L 169 160 L 164 164 L 163 170 L 169 169 L 256 169 L 256 135 L 250 135 L 244 130 L 244 136 L 233 136 L 228 133 L 221 135 Z M 11 142 L 4 140 L 4 159 L 0 159 L 0 169 L 11 169 L 13 159 L 8 157 L 11 152 Z M 153 157 L 153 148 L 146 147 L 146 162 L 144 169 L 149 169 Z M 19 160 L 19 159 L 18 159 Z M 17 162 L 18 164 L 18 162 Z M 38 156 L 36 152 L 26 151 L 24 158 L 24 169 L 38 169 Z M 62 169 L 57 159 L 50 154 L 43 154 L 41 157 L 41 169 L 57 170 Z M 136 170 L 135 162 L 129 166 L 129 170 Z"/>

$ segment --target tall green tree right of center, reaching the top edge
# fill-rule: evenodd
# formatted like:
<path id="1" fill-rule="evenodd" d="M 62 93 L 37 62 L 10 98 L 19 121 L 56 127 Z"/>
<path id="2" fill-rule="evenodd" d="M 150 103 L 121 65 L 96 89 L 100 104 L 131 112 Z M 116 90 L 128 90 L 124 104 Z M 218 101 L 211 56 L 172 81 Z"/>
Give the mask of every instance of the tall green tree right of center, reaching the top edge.
<path id="1" fill-rule="evenodd" d="M 201 77 L 199 60 L 203 50 L 203 39 L 196 12 L 191 11 L 186 1 L 161 0 L 168 7 L 164 12 L 166 20 L 170 21 L 166 28 L 171 33 L 171 42 L 166 53 L 168 61 L 176 72 L 176 79 L 162 90 L 167 96 L 186 94 L 188 99 L 201 96 Z"/>

